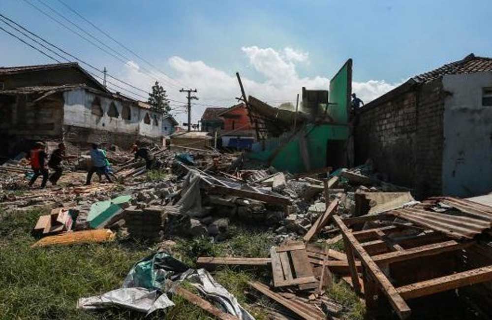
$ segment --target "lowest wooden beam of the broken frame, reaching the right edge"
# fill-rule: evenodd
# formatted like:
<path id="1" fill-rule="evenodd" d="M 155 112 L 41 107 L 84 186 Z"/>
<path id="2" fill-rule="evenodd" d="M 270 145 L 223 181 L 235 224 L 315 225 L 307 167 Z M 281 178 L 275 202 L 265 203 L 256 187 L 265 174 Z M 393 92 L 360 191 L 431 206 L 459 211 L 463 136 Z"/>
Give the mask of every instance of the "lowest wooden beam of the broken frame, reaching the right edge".
<path id="1" fill-rule="evenodd" d="M 397 290 L 403 298 L 412 299 L 487 281 L 492 281 L 492 265 L 417 282 Z"/>

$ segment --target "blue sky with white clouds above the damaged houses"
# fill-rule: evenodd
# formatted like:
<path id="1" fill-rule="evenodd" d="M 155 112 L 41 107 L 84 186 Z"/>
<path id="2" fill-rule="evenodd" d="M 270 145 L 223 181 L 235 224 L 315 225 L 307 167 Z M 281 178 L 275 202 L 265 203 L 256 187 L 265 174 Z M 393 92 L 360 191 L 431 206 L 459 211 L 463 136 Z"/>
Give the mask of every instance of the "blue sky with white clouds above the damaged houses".
<path id="1" fill-rule="evenodd" d="M 196 123 L 209 106 L 237 103 L 236 72 L 246 95 L 295 104 L 303 86 L 328 90 L 352 58 L 352 91 L 369 102 L 470 53 L 492 56 L 490 0 L 0 0 L 0 13 L 97 70 L 106 67 L 126 82 L 108 78 L 126 89 L 109 85 L 114 91 L 145 99 L 158 80 L 180 123 L 186 99 L 179 89 L 197 89 Z M 49 63 L 0 30 L 0 66 Z"/>

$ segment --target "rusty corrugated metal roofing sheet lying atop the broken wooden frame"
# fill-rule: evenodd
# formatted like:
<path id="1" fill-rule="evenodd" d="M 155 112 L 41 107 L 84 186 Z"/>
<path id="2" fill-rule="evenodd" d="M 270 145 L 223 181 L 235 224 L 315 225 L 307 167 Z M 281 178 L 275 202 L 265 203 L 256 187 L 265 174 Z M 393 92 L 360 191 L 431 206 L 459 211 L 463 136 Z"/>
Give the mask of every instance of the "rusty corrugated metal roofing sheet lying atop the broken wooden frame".
<path id="1" fill-rule="evenodd" d="M 472 239 L 492 226 L 492 207 L 452 197 L 432 197 L 388 213 L 455 239 Z"/>

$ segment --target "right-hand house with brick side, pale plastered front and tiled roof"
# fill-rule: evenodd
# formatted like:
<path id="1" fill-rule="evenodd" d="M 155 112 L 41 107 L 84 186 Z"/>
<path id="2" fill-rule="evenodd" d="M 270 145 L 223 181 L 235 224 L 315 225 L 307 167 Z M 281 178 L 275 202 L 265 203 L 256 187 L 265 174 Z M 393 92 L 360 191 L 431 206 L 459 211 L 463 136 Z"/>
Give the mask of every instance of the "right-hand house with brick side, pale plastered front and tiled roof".
<path id="1" fill-rule="evenodd" d="M 492 191 L 492 59 L 473 54 L 415 76 L 360 109 L 357 163 L 420 197 Z"/>

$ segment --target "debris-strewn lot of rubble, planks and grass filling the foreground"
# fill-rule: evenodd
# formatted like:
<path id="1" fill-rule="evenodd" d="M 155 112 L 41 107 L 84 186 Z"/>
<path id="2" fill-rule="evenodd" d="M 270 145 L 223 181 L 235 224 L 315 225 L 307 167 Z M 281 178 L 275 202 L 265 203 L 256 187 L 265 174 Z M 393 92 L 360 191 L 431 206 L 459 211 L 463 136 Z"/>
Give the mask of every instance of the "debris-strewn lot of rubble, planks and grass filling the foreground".
<path id="1" fill-rule="evenodd" d="M 84 186 L 83 153 L 46 190 L 0 166 L 0 314 L 487 319 L 458 290 L 492 280 L 491 207 L 416 201 L 370 161 L 293 175 L 190 149 L 154 147 L 152 171 L 110 151 L 116 184 Z"/>

